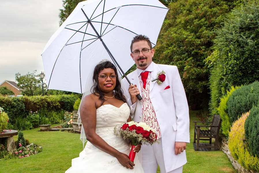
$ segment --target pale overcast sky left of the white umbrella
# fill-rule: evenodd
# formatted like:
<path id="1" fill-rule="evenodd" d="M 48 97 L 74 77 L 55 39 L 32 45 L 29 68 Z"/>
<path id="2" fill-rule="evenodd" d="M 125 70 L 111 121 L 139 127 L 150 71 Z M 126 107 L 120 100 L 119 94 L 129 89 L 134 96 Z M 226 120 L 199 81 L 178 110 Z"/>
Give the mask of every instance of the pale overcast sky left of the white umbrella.
<path id="1" fill-rule="evenodd" d="M 0 83 L 44 71 L 41 53 L 59 28 L 62 0 L 1 0 Z"/>

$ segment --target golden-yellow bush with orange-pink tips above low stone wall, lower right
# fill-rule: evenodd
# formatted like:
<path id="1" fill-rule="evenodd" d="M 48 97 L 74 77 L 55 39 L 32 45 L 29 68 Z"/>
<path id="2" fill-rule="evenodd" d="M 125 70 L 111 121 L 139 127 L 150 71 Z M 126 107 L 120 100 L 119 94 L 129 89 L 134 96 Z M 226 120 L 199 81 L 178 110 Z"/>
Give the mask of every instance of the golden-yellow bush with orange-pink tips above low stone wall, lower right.
<path id="1" fill-rule="evenodd" d="M 230 129 L 228 147 L 232 157 L 244 168 L 259 171 L 259 158 L 254 157 L 248 150 L 248 144 L 245 141 L 245 120 L 249 112 L 243 114 L 233 123 Z"/>

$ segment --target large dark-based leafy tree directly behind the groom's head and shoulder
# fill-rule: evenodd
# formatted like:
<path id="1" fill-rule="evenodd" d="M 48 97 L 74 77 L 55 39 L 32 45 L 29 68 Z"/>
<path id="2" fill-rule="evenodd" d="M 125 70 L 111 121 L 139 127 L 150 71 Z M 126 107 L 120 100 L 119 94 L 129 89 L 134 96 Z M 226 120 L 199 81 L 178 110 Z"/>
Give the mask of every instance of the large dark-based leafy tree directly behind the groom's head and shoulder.
<path id="1" fill-rule="evenodd" d="M 204 59 L 212 52 L 214 30 L 238 2 L 179 0 L 168 5 L 153 60 L 178 67 L 191 106 L 208 104 L 209 70 Z"/>

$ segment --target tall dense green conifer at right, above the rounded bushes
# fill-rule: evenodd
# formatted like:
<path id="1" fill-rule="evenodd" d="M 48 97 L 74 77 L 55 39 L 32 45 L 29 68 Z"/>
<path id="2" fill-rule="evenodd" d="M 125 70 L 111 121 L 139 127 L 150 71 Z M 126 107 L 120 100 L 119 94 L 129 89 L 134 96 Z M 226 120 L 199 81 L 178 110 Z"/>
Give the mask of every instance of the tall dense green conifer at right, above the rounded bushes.
<path id="1" fill-rule="evenodd" d="M 218 106 L 218 99 L 231 86 L 241 86 L 259 79 L 258 1 L 245 3 L 226 18 L 223 26 L 215 32 L 214 55 L 205 60 L 208 67 L 212 67 L 211 112 Z"/>

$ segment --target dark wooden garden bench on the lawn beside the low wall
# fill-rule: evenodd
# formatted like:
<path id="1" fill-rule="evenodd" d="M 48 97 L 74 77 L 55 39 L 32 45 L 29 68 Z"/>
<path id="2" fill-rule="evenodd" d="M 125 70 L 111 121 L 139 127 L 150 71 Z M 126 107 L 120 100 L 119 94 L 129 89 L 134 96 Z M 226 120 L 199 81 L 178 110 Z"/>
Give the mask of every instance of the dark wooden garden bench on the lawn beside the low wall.
<path id="1" fill-rule="evenodd" d="M 197 125 L 197 123 L 210 123 L 211 125 Z M 214 148 L 214 150 L 218 150 L 218 142 L 219 142 L 219 128 L 221 125 L 221 119 L 219 115 L 214 115 L 212 122 L 202 122 L 202 121 L 194 121 L 194 141 L 196 143 L 196 135 L 197 135 L 197 143 L 196 143 L 196 151 L 199 151 L 199 148 Z M 208 130 L 202 130 L 201 127 L 208 127 Z M 204 139 L 205 138 L 205 139 Z M 214 146 L 211 143 L 211 139 L 215 138 Z M 209 141 L 209 146 L 200 145 L 200 140 Z"/>

